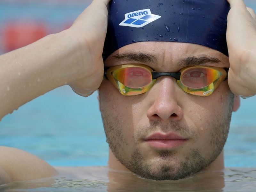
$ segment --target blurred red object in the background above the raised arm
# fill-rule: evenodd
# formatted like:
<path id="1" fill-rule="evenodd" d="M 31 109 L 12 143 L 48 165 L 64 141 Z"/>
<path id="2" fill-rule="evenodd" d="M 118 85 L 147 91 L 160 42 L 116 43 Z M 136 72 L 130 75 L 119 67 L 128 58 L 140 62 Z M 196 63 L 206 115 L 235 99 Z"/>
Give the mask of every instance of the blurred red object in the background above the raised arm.
<path id="1" fill-rule="evenodd" d="M 4 51 L 9 52 L 46 36 L 45 26 L 36 22 L 9 23 L 4 28 Z"/>

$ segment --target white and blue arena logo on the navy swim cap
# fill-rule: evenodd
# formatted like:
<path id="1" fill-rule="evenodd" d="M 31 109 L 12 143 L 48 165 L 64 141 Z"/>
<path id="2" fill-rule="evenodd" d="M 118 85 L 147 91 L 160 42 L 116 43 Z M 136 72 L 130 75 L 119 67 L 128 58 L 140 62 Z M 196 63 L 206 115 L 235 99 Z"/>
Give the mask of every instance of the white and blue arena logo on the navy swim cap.
<path id="1" fill-rule="evenodd" d="M 140 28 L 161 18 L 161 16 L 152 14 L 150 9 L 143 9 L 126 13 L 124 14 L 124 18 L 125 19 L 119 24 L 120 26 Z"/>

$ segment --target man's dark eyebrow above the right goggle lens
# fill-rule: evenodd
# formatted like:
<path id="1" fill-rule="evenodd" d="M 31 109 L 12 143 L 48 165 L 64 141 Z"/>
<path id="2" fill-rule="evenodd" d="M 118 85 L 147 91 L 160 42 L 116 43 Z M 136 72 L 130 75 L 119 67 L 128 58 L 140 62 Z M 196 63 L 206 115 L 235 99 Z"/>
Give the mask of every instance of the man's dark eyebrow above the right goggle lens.
<path id="1" fill-rule="evenodd" d="M 178 62 L 179 68 L 196 66 L 196 65 L 205 65 L 205 64 L 213 64 L 220 63 L 221 61 L 216 57 L 210 57 L 208 55 L 198 55 L 187 57 L 185 59 L 180 59 Z"/>

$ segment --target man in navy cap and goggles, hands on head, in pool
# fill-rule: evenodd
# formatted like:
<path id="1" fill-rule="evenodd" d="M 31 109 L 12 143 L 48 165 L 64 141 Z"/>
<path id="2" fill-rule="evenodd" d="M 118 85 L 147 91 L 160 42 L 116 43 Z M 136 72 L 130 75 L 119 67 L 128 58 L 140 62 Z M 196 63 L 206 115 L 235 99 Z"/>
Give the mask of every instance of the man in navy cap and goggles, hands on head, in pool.
<path id="1" fill-rule="evenodd" d="M 232 111 L 256 94 L 255 12 L 242 0 L 130 2 L 110 2 L 108 15 L 109 0 L 93 0 L 69 29 L 1 55 L 0 118 L 62 85 L 99 89 L 109 168 L 150 180 L 223 169 Z M 0 184 L 58 174 L 0 152 Z"/>

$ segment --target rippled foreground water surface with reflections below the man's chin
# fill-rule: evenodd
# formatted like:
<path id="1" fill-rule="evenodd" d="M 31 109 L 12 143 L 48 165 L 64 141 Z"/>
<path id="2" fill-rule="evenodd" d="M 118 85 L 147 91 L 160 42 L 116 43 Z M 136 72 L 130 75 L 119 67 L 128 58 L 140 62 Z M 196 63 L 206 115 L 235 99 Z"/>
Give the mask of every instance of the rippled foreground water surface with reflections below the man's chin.
<path id="1" fill-rule="evenodd" d="M 217 192 L 256 190 L 256 168 L 226 168 L 223 171 L 201 172 L 178 181 L 154 181 L 130 172 L 116 172 L 107 167 L 57 167 L 54 178 L 14 182 L 0 186 L 0 191 L 190 191 Z"/>

